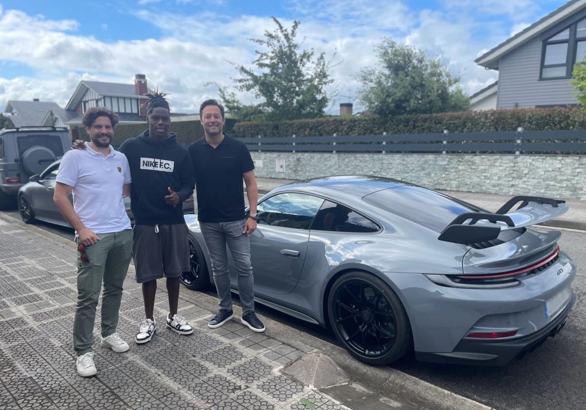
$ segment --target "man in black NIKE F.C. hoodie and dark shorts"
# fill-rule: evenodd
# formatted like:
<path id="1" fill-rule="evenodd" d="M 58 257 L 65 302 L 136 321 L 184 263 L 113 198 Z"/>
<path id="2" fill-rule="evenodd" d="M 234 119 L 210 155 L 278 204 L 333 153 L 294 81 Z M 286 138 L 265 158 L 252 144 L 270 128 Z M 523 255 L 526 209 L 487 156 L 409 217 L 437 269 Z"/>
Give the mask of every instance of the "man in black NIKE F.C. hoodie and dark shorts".
<path id="1" fill-rule="evenodd" d="M 146 319 L 136 342 L 147 343 L 156 331 L 153 316 L 156 279 L 166 277 L 169 315 L 166 325 L 179 334 L 192 334 L 186 320 L 177 315 L 179 276 L 189 271 L 188 227 L 182 203 L 195 184 L 189 152 L 169 133 L 171 111 L 163 93 L 149 97 L 149 129 L 124 141 L 119 151 L 128 158 L 132 177 L 131 209 L 134 215 L 134 264 L 142 283 Z"/>

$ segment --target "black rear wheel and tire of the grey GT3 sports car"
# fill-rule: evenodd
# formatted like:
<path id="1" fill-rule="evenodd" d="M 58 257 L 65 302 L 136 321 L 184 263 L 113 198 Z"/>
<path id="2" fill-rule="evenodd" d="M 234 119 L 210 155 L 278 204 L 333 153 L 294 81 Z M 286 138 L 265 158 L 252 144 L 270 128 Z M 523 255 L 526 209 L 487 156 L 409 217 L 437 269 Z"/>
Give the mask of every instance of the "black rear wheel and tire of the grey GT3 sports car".
<path id="1" fill-rule="evenodd" d="M 328 296 L 328 318 L 340 343 L 364 363 L 393 363 L 413 346 L 403 303 L 387 283 L 367 272 L 347 272 L 336 279 Z"/>

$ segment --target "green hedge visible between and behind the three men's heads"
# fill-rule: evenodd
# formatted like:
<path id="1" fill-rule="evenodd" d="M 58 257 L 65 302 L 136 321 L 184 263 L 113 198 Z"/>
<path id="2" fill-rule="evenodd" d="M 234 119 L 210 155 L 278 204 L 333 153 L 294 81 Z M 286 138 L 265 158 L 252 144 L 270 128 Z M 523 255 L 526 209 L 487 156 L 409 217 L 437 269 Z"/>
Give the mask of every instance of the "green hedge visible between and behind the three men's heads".
<path id="1" fill-rule="evenodd" d="M 226 118 L 226 125 L 224 125 L 224 131 L 228 132 L 229 134 L 232 134 L 235 123 L 235 119 Z M 113 143 L 119 144 L 126 141 L 128 138 L 138 136 L 143 131 L 145 131 L 145 129 L 148 129 L 148 125 L 146 122 L 144 124 L 118 125 L 114 130 Z M 90 140 L 86 133 L 85 127 L 79 127 L 77 131 L 81 139 L 84 139 L 85 141 Z M 190 143 L 193 141 L 197 141 L 203 136 L 202 124 L 200 124 L 199 121 L 171 121 L 171 127 L 169 127 L 169 132 L 176 132 L 177 141 L 181 143 Z"/>

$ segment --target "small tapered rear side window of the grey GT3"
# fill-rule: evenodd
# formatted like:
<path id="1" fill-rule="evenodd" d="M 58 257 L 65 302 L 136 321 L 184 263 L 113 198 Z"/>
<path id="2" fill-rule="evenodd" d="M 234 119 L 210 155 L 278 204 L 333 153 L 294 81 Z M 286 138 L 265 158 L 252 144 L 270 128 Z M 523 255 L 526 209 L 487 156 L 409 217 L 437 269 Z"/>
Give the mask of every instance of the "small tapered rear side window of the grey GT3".
<path id="1" fill-rule="evenodd" d="M 340 204 L 324 201 L 311 225 L 312 230 L 347 233 L 379 231 L 373 221 Z"/>

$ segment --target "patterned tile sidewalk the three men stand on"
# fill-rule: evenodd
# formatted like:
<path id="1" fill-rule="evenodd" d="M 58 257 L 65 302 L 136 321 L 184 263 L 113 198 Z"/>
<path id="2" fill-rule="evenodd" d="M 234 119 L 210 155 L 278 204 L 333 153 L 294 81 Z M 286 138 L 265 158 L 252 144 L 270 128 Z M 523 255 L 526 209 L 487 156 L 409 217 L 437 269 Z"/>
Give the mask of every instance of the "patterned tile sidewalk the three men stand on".
<path id="1" fill-rule="evenodd" d="M 319 366 L 321 374 L 312 368 L 312 357 L 324 359 L 315 351 L 282 343 L 270 337 L 271 329 L 254 333 L 236 318 L 209 329 L 207 320 L 216 306 L 202 308 L 195 299 L 199 293 L 183 289 L 179 302 L 179 314 L 192 324 L 194 333 L 180 336 L 166 329 L 164 281 L 159 281 L 156 294 L 157 333 L 151 342 L 135 344 L 144 310 L 132 265 L 118 324 L 118 334 L 131 349 L 120 354 L 99 346 L 98 305 L 98 374 L 80 377 L 71 335 L 77 298 L 75 257 L 70 240 L 0 214 L 2 410 L 349 408 L 314 388 L 335 384 L 336 373 L 343 373 L 333 361 Z M 302 382 L 308 371 L 311 386 Z M 421 409 L 396 397 L 389 402 L 405 410 Z"/>

